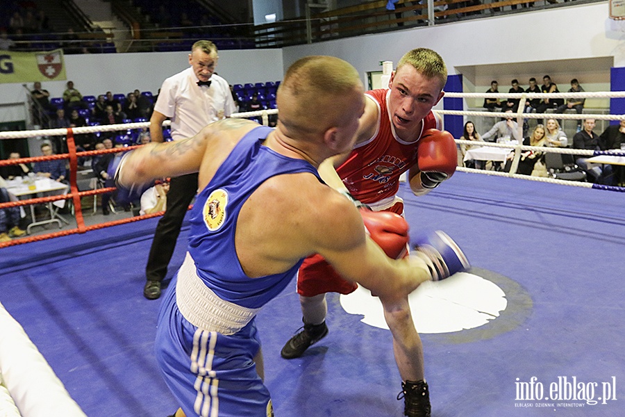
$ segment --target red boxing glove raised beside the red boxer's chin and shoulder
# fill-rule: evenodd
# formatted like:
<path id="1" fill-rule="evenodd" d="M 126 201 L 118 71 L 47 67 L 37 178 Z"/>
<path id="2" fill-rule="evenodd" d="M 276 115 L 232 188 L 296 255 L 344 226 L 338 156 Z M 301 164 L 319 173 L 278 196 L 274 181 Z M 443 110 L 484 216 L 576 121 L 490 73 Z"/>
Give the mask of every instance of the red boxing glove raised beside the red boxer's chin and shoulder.
<path id="1" fill-rule="evenodd" d="M 424 131 L 417 145 L 417 166 L 421 185 L 435 188 L 456 172 L 458 148 L 451 133 L 437 129 Z"/>

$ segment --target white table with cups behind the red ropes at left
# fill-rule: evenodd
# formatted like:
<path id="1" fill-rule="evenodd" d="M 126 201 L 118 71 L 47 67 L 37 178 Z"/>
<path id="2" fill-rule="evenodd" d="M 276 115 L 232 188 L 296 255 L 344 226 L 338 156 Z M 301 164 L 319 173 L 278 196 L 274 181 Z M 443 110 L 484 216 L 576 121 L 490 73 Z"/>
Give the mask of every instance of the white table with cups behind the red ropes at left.
<path id="1" fill-rule="evenodd" d="M 35 179 L 35 188 L 28 188 L 28 184 L 24 183 L 24 180 L 21 178 L 12 179 L 10 181 L 6 181 L 7 188 L 6 190 L 9 194 L 15 196 L 16 198 L 35 198 L 37 194 L 41 194 L 43 197 L 47 197 L 50 195 L 61 195 L 67 194 L 69 191 L 69 186 L 65 183 L 61 183 L 58 181 L 54 181 L 53 179 L 49 179 L 46 177 L 37 177 Z M 65 222 L 65 224 L 69 224 L 65 218 L 58 214 L 58 209 L 63 208 L 65 206 L 65 200 L 58 200 L 56 202 L 47 202 L 45 203 L 48 211 L 50 212 L 50 218 L 47 220 L 41 220 L 37 222 L 35 220 L 35 205 L 31 204 L 31 218 L 33 222 L 28 224 L 26 228 L 26 232 L 31 234 L 31 229 L 35 226 L 42 226 L 44 224 L 49 223 L 57 223 L 58 227 L 63 226 L 61 221 Z"/>

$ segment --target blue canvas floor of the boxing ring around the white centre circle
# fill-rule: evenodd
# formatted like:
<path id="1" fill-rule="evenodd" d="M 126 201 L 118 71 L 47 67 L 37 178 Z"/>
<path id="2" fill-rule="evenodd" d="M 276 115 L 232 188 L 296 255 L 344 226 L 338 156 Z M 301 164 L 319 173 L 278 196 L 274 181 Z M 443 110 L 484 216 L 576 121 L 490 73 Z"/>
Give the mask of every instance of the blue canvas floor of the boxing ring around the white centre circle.
<path id="1" fill-rule="evenodd" d="M 572 116 L 579 117 L 558 118 Z M 422 334 L 433 416 L 625 413 L 625 211 L 622 193 L 610 192 L 622 187 L 533 180 L 459 167 L 424 197 L 401 186 L 411 229 L 449 233 L 471 260 L 469 272 L 506 300 L 483 325 Z M 0 248 L 0 302 L 24 328 L 19 338 L 30 338 L 49 363 L 44 374 L 65 386 L 67 394 L 56 397 L 77 404 L 75 414 L 47 415 L 165 416 L 177 408 L 153 354 L 159 303 L 140 291 L 156 220 L 33 236 Z M 185 223 L 167 280 L 183 261 L 187 237 Z M 328 296 L 330 333 L 290 361 L 279 352 L 300 325 L 294 282 L 260 311 L 276 416 L 401 415 L 389 332 L 344 305 Z M 482 307 L 476 302 L 474 309 Z M 427 322 L 440 318 L 439 311 L 419 314 Z M 17 341 L 5 336 L 7 326 L 1 322 L 0 341 Z M 17 362 L 0 352 L 1 371 L 6 363 Z M 25 375 L 10 383 L 53 409 Z"/>

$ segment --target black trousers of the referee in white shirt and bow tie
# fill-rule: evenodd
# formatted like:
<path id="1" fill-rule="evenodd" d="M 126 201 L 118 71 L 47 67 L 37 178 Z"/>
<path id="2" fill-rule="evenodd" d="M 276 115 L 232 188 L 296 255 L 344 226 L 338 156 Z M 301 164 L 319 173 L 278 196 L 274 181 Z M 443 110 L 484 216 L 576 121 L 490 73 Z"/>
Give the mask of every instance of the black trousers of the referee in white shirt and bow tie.
<path id="1" fill-rule="evenodd" d="M 163 281 L 172 260 L 176 240 L 191 200 L 197 193 L 198 174 L 172 178 L 167 193 L 167 210 L 156 226 L 145 268 L 148 281 Z"/>

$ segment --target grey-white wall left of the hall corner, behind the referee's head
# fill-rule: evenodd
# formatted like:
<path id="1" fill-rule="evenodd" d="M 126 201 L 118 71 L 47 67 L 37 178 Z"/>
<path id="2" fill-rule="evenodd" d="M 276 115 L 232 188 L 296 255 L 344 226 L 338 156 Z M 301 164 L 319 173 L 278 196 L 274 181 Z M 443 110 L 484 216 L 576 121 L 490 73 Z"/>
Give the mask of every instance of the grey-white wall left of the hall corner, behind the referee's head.
<path id="1" fill-rule="evenodd" d="M 74 81 L 82 95 L 99 95 L 109 90 L 126 93 L 135 88 L 156 94 L 163 80 L 188 65 L 185 51 L 65 56 L 67 80 Z M 282 69 L 280 49 L 219 51 L 217 73 L 231 84 L 278 81 L 282 79 Z M 66 82 L 42 80 L 42 87 L 51 97 L 61 97 Z M 26 86 L 31 89 L 33 83 Z M 0 84 L 0 122 L 24 120 L 25 98 L 22 84 Z"/>

